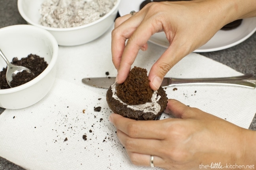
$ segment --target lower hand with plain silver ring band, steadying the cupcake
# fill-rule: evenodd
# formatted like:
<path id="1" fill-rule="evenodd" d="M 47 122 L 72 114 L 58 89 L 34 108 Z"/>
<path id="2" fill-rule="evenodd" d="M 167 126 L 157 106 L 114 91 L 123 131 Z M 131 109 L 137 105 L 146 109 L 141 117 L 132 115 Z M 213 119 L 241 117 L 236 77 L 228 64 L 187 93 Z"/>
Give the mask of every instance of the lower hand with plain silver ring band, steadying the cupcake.
<path id="1" fill-rule="evenodd" d="M 255 163 L 255 132 L 173 99 L 168 100 L 165 112 L 177 118 L 135 121 L 110 115 L 135 165 L 149 166 L 150 155 L 154 155 L 155 166 L 167 170 L 198 170 L 214 163 L 216 169 L 216 163 L 222 168 Z"/>

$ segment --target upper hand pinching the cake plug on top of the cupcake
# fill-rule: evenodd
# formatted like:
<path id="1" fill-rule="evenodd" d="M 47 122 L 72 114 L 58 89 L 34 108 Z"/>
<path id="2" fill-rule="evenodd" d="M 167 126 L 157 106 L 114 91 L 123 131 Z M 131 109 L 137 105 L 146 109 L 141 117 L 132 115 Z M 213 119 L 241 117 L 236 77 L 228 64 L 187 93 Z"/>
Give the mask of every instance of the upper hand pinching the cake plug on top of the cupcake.
<path id="1" fill-rule="evenodd" d="M 224 4 L 222 0 L 152 2 L 133 16 L 117 18 L 112 31 L 112 61 L 118 69 L 117 82 L 127 78 L 138 51 L 147 49 L 151 35 L 164 31 L 170 46 L 149 72 L 150 87 L 157 90 L 172 66 L 234 20 L 228 18 L 228 13 L 220 15 L 222 10 L 231 8 Z"/>

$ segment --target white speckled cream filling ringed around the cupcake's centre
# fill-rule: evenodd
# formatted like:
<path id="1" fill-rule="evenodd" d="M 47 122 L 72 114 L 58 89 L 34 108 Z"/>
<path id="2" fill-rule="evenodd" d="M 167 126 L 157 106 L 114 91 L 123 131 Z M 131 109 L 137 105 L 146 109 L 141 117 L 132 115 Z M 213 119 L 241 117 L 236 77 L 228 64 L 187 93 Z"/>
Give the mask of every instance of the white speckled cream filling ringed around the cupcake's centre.
<path id="1" fill-rule="evenodd" d="M 157 102 L 159 101 L 159 99 L 161 98 L 160 95 L 157 96 L 157 91 L 154 91 L 152 97 L 151 97 L 151 101 L 152 102 L 146 102 L 145 104 L 138 104 L 138 105 L 128 105 L 126 103 L 124 103 L 123 101 L 121 101 L 121 99 L 119 99 L 119 97 L 116 95 L 116 83 L 113 83 L 111 85 L 111 90 L 112 90 L 112 97 L 118 101 L 120 101 L 122 104 L 127 105 L 128 108 L 131 108 L 133 110 L 139 110 L 139 111 L 143 111 L 144 113 L 154 113 L 155 115 L 157 115 L 158 112 L 160 112 L 161 110 L 161 106 L 160 104 L 158 104 Z"/>

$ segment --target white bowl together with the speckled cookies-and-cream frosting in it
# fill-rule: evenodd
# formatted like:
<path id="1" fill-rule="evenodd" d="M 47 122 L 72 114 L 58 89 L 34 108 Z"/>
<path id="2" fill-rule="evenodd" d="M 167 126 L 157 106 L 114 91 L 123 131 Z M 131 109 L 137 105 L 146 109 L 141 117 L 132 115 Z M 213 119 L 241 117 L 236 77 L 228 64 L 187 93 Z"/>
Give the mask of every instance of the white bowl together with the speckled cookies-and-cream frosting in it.
<path id="1" fill-rule="evenodd" d="M 49 31 L 60 46 L 95 40 L 113 24 L 121 0 L 18 0 L 28 24 Z"/>

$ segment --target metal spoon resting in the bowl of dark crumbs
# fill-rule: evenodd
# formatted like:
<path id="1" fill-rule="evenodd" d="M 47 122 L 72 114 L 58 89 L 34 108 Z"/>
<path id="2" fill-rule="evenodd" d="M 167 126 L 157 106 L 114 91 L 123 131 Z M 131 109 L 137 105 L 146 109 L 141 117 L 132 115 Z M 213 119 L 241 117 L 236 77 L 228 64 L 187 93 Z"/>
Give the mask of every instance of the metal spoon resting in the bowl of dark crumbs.
<path id="1" fill-rule="evenodd" d="M 6 62 L 7 64 L 7 71 L 6 71 L 6 81 L 8 83 L 8 85 L 11 87 L 11 81 L 13 80 L 13 77 L 15 77 L 15 75 L 19 72 L 22 72 L 22 71 L 27 71 L 28 73 L 34 75 L 34 73 L 26 68 L 26 67 L 23 67 L 23 66 L 15 66 L 13 64 L 11 64 L 7 58 L 5 57 L 5 55 L 2 53 L 1 49 L 0 49 L 0 55 L 2 58 L 4 58 L 4 61 Z"/>

